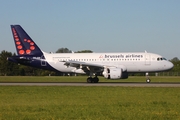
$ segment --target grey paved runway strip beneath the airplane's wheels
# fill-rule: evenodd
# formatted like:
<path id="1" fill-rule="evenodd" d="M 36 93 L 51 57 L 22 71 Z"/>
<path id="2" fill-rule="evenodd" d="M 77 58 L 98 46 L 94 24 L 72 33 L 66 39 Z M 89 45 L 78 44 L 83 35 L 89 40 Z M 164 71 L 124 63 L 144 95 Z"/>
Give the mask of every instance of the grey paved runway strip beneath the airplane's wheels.
<path id="1" fill-rule="evenodd" d="M 0 86 L 122 86 L 122 87 L 180 87 L 180 82 L 174 83 L 85 83 L 85 82 L 53 82 L 53 83 L 0 83 Z"/>

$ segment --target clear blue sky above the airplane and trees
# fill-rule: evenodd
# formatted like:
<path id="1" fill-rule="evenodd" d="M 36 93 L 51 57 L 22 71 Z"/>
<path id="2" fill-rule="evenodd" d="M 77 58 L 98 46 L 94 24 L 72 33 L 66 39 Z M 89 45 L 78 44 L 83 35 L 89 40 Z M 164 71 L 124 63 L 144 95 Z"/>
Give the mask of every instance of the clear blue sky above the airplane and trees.
<path id="1" fill-rule="evenodd" d="M 147 52 L 180 59 L 180 0 L 0 0 L 0 51 L 19 24 L 45 52 Z"/>

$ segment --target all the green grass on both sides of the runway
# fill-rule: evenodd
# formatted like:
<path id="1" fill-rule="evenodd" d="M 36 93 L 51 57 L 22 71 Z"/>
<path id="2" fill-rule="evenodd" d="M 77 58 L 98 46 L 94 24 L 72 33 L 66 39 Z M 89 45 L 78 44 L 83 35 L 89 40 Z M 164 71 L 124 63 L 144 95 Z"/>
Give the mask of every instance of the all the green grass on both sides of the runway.
<path id="1" fill-rule="evenodd" d="M 85 78 L 0 77 L 0 82 L 85 82 Z M 152 78 L 155 82 L 179 82 L 178 77 Z M 144 77 L 125 81 L 145 82 Z M 0 120 L 6 119 L 178 120 L 180 88 L 0 86 Z"/>

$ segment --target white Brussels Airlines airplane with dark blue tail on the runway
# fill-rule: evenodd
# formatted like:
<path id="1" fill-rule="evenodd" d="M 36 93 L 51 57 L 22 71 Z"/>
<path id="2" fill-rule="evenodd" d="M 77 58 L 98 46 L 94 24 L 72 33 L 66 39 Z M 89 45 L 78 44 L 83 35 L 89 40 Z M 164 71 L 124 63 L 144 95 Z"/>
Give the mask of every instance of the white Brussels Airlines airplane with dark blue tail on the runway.
<path id="1" fill-rule="evenodd" d="M 88 83 L 98 83 L 98 75 L 107 79 L 127 79 L 128 73 L 167 71 L 173 64 L 164 57 L 148 52 L 122 53 L 46 53 L 20 25 L 11 25 L 17 56 L 7 60 L 22 65 L 63 73 L 87 74 Z"/>

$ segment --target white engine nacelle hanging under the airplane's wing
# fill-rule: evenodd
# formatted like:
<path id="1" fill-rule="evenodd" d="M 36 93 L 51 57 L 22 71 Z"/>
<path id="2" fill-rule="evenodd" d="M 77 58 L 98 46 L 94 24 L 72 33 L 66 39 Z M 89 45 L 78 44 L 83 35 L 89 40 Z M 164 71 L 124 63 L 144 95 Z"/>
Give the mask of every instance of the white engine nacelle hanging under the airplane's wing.
<path id="1" fill-rule="evenodd" d="M 123 72 L 121 68 L 106 68 L 103 71 L 103 75 L 107 79 L 126 79 L 128 73 Z"/>

